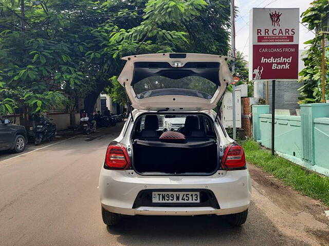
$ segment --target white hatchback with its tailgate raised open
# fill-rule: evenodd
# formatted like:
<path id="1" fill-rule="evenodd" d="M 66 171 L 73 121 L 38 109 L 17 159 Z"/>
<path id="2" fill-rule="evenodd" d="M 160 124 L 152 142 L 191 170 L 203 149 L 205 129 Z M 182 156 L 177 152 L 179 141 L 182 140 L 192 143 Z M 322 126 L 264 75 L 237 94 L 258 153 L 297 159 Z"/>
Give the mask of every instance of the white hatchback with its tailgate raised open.
<path id="1" fill-rule="evenodd" d="M 114 226 L 121 215 L 214 214 L 243 224 L 251 198 L 245 154 L 213 111 L 233 80 L 229 58 L 123 59 L 118 80 L 134 111 L 107 147 L 100 172 L 104 223 Z"/>

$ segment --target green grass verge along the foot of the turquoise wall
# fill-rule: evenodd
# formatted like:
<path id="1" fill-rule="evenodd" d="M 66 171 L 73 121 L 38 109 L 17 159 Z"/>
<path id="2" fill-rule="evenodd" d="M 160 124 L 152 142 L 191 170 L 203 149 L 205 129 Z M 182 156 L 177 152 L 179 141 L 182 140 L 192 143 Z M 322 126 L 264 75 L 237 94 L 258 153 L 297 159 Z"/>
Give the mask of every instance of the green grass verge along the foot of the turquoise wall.
<path id="1" fill-rule="evenodd" d="M 295 163 L 260 148 L 253 140 L 241 141 L 247 161 L 281 179 L 303 195 L 319 199 L 329 206 L 329 177 L 317 175 Z"/>

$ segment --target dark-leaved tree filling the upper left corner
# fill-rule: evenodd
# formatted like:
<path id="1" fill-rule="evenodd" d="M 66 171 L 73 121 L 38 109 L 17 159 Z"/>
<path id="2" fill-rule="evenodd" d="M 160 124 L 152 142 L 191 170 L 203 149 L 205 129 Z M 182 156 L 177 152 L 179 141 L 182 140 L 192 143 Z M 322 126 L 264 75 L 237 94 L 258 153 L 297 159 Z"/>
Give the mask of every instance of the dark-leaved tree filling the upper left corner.
<path id="1" fill-rule="evenodd" d="M 98 27 L 108 18 L 96 17 L 103 13 L 104 2 L 28 0 L 0 5 L 3 81 L 12 90 L 28 90 L 25 106 L 30 111 L 68 103 L 73 112 L 78 98 L 95 89 L 95 81 L 107 80 L 111 57 L 101 57 L 98 50 L 109 33 L 98 32 Z"/>

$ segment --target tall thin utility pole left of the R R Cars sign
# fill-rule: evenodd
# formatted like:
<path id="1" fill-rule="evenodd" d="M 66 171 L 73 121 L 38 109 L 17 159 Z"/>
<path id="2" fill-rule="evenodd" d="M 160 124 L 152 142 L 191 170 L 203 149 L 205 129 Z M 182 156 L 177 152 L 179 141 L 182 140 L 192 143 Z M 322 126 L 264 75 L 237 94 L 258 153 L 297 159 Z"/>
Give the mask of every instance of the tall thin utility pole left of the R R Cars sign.
<path id="1" fill-rule="evenodd" d="M 233 58 L 232 75 L 235 73 L 235 14 L 234 14 L 234 0 L 230 0 L 231 7 L 231 56 Z M 232 85 L 232 114 L 233 114 L 233 139 L 236 139 L 236 127 L 235 127 L 235 86 Z"/>

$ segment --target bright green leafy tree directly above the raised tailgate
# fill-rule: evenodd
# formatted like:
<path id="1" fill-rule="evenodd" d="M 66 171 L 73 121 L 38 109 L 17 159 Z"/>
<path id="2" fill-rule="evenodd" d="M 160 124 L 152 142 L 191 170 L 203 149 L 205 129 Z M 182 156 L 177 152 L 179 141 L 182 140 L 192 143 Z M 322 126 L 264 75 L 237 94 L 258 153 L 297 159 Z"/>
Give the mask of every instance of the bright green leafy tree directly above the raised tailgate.
<path id="1" fill-rule="evenodd" d="M 145 4 L 140 20 L 130 29 L 116 26 L 106 49 L 114 58 L 142 53 L 228 52 L 227 1 L 152 0 Z M 116 80 L 111 81 L 111 87 L 115 88 L 109 90 L 111 97 L 123 101 L 123 88 Z"/>

